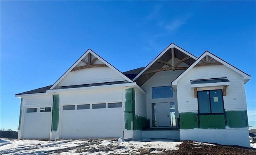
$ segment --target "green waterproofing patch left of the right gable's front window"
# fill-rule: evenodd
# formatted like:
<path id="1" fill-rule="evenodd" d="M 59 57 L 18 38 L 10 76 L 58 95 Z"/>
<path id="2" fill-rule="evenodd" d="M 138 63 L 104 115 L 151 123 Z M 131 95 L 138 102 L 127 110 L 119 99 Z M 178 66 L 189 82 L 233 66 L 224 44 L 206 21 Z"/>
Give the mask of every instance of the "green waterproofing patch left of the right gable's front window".
<path id="1" fill-rule="evenodd" d="M 198 115 L 193 112 L 179 113 L 180 129 L 198 128 Z"/>

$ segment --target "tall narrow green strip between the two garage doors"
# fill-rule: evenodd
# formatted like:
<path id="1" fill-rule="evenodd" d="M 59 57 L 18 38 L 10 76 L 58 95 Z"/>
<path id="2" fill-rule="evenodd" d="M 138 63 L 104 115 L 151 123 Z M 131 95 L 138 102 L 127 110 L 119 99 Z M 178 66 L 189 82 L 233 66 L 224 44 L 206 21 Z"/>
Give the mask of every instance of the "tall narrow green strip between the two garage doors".
<path id="1" fill-rule="evenodd" d="M 59 95 L 53 95 L 53 101 L 52 101 L 52 131 L 58 130 L 58 124 L 59 124 L 59 108 L 60 105 L 60 97 Z"/>

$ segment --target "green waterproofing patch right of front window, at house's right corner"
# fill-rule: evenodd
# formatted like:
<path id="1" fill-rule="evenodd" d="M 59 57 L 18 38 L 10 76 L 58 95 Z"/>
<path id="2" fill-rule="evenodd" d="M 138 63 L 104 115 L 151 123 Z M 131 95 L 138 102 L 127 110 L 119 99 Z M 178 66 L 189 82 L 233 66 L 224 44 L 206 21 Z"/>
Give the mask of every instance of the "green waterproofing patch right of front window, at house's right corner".
<path id="1" fill-rule="evenodd" d="M 247 111 L 226 111 L 227 124 L 230 128 L 248 127 Z"/>

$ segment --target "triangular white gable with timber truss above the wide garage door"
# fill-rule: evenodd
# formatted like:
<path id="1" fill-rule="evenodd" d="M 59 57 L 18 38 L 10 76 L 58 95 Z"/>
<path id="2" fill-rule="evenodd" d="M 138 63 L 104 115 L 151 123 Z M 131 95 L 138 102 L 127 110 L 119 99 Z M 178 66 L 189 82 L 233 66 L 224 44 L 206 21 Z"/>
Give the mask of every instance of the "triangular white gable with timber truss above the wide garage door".
<path id="1" fill-rule="evenodd" d="M 132 82 L 89 49 L 50 89 L 116 81 Z"/>

